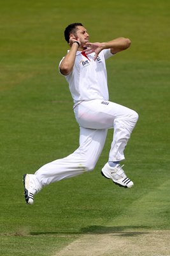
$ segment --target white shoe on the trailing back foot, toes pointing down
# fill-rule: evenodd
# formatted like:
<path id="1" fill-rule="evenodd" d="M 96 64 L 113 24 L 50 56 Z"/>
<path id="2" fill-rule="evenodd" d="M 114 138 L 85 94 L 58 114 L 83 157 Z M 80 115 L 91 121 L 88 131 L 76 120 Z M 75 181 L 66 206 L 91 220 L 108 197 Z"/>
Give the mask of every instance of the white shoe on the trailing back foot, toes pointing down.
<path id="1" fill-rule="evenodd" d="M 34 195 L 36 195 L 36 193 L 38 193 L 39 190 L 41 189 L 40 184 L 34 174 L 24 174 L 23 183 L 24 183 L 25 201 L 27 204 L 33 204 Z"/>

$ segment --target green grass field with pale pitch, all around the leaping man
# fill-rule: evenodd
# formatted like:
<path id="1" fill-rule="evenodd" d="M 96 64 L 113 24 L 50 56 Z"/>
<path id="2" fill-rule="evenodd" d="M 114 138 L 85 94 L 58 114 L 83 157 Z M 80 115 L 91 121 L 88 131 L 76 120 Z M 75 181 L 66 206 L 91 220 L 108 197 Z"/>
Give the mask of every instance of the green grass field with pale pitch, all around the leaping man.
<path id="1" fill-rule="evenodd" d="M 170 255 L 169 17 L 166 0 L 1 1 L 1 255 Z M 82 22 L 92 42 L 132 40 L 107 68 L 110 100 L 139 113 L 124 161 L 134 188 L 100 174 L 109 131 L 93 172 L 51 184 L 26 205 L 23 173 L 78 147 L 73 102 L 57 71 L 71 22 Z"/>

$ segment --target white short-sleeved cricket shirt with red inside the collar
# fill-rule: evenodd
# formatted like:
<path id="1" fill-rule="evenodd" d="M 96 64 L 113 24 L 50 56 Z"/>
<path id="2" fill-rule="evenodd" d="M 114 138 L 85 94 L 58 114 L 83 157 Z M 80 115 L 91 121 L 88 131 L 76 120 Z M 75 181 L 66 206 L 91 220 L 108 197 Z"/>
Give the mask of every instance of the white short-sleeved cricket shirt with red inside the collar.
<path id="1" fill-rule="evenodd" d="M 110 49 L 104 49 L 99 53 L 96 61 L 93 60 L 94 55 L 93 52 L 83 56 L 81 51 L 77 51 L 73 70 L 65 76 L 74 103 L 81 100 L 108 100 L 109 98 L 105 60 L 113 54 L 111 54 Z"/>

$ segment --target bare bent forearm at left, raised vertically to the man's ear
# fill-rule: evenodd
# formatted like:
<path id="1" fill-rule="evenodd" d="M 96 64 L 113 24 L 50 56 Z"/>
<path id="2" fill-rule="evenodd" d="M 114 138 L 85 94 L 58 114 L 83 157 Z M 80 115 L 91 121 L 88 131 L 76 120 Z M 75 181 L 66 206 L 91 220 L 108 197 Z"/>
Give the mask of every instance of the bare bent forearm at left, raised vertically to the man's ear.
<path id="1" fill-rule="evenodd" d="M 70 51 L 67 53 L 67 55 L 64 57 L 64 59 L 60 63 L 59 68 L 60 68 L 60 73 L 62 75 L 67 76 L 73 70 L 77 50 L 78 50 L 78 44 L 77 43 L 73 44 L 72 42 Z"/>

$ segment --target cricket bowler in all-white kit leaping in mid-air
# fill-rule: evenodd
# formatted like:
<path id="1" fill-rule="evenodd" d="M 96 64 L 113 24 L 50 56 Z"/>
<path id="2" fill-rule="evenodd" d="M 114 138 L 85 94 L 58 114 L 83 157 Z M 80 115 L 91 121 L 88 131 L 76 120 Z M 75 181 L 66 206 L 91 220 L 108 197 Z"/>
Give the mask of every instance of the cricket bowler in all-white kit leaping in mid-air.
<path id="1" fill-rule="evenodd" d="M 34 174 L 24 175 L 27 204 L 44 186 L 94 169 L 101 155 L 109 128 L 114 129 L 108 163 L 101 171 L 107 179 L 123 188 L 133 182 L 125 175 L 120 161 L 124 148 L 138 120 L 138 114 L 108 99 L 105 60 L 131 45 L 128 38 L 110 42 L 90 43 L 81 23 L 67 26 L 65 39 L 70 46 L 60 61 L 60 74 L 66 77 L 74 100 L 74 114 L 80 125 L 80 147 L 73 154 L 45 164 Z"/>

